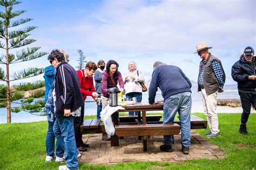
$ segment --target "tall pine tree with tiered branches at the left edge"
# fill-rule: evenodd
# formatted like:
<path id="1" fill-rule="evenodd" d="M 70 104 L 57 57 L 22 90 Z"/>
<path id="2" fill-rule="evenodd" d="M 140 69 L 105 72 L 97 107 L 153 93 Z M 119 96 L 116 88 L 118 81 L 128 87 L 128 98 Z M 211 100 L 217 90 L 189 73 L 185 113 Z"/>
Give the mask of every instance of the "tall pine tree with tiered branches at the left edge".
<path id="1" fill-rule="evenodd" d="M 9 74 L 10 65 L 13 63 L 29 61 L 37 59 L 47 53 L 37 52 L 41 47 L 27 47 L 18 51 L 19 47 L 35 42 L 35 39 L 28 39 L 29 32 L 36 29 L 35 26 L 24 27 L 23 29 L 14 29 L 14 27 L 24 24 L 32 20 L 31 18 L 21 18 L 14 20 L 15 17 L 26 12 L 25 10 L 13 11 L 14 5 L 21 2 L 15 0 L 1 0 L 0 5 L 3 6 L 4 11 L 0 11 L 0 48 L 6 52 L 0 56 L 0 63 L 6 66 L 6 70 L 0 67 L 0 80 L 6 82 L 6 109 L 7 109 L 7 123 L 11 123 L 11 97 L 10 82 L 15 80 L 26 79 L 44 73 L 44 68 L 24 68 L 15 72 L 13 75 Z M 16 49 L 15 53 L 10 53 L 12 49 Z M 6 73 L 5 73 L 6 71 Z"/>

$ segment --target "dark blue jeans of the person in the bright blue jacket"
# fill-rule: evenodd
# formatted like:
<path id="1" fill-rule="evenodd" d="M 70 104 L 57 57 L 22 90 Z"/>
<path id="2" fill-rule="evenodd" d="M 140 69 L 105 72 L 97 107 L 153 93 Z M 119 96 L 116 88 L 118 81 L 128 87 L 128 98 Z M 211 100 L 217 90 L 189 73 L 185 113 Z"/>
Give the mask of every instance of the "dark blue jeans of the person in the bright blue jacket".
<path id="1" fill-rule="evenodd" d="M 55 123 L 54 121 L 48 121 L 48 131 L 46 133 L 46 140 L 45 140 L 45 146 L 46 146 L 46 155 L 54 157 L 54 149 L 55 149 L 55 135 L 53 133 L 53 125 Z M 56 156 L 59 158 L 62 158 L 64 154 L 64 150 L 62 147 L 60 147 L 58 140 L 56 140 Z"/>

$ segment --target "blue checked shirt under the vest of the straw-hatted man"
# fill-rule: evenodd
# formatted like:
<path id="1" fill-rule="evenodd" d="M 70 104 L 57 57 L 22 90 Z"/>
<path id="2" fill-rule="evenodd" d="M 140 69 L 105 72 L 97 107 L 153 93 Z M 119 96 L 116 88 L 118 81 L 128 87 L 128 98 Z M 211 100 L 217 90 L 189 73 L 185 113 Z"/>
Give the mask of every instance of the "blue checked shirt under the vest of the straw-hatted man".
<path id="1" fill-rule="evenodd" d="M 204 86 L 204 62 L 203 62 L 203 66 L 201 69 L 201 73 L 200 76 L 198 78 L 198 84 L 199 86 Z M 220 67 L 220 64 L 218 63 L 218 61 L 213 60 L 212 61 L 212 68 L 213 68 L 213 73 L 215 74 L 215 76 L 217 77 L 218 81 L 219 81 L 219 89 L 223 89 L 224 86 L 224 81 L 223 81 L 223 71 Z"/>

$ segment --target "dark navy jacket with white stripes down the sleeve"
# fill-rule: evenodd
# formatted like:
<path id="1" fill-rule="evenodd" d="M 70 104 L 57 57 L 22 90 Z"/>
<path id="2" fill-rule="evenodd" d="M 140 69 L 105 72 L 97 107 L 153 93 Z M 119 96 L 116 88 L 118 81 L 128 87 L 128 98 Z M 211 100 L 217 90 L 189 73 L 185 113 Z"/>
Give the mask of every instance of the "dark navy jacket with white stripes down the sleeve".
<path id="1" fill-rule="evenodd" d="M 77 72 L 66 62 L 60 63 L 56 68 L 55 92 L 57 117 L 64 115 L 64 109 L 72 112 L 84 105 Z"/>

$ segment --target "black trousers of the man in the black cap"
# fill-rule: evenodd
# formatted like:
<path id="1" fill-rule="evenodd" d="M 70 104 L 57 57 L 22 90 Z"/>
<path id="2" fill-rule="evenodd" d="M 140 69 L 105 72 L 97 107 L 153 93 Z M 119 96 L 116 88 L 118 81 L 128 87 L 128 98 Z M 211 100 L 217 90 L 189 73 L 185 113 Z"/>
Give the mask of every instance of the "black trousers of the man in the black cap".
<path id="1" fill-rule="evenodd" d="M 242 104 L 241 124 L 245 125 L 251 114 L 251 105 L 256 109 L 256 93 L 238 93 Z"/>

